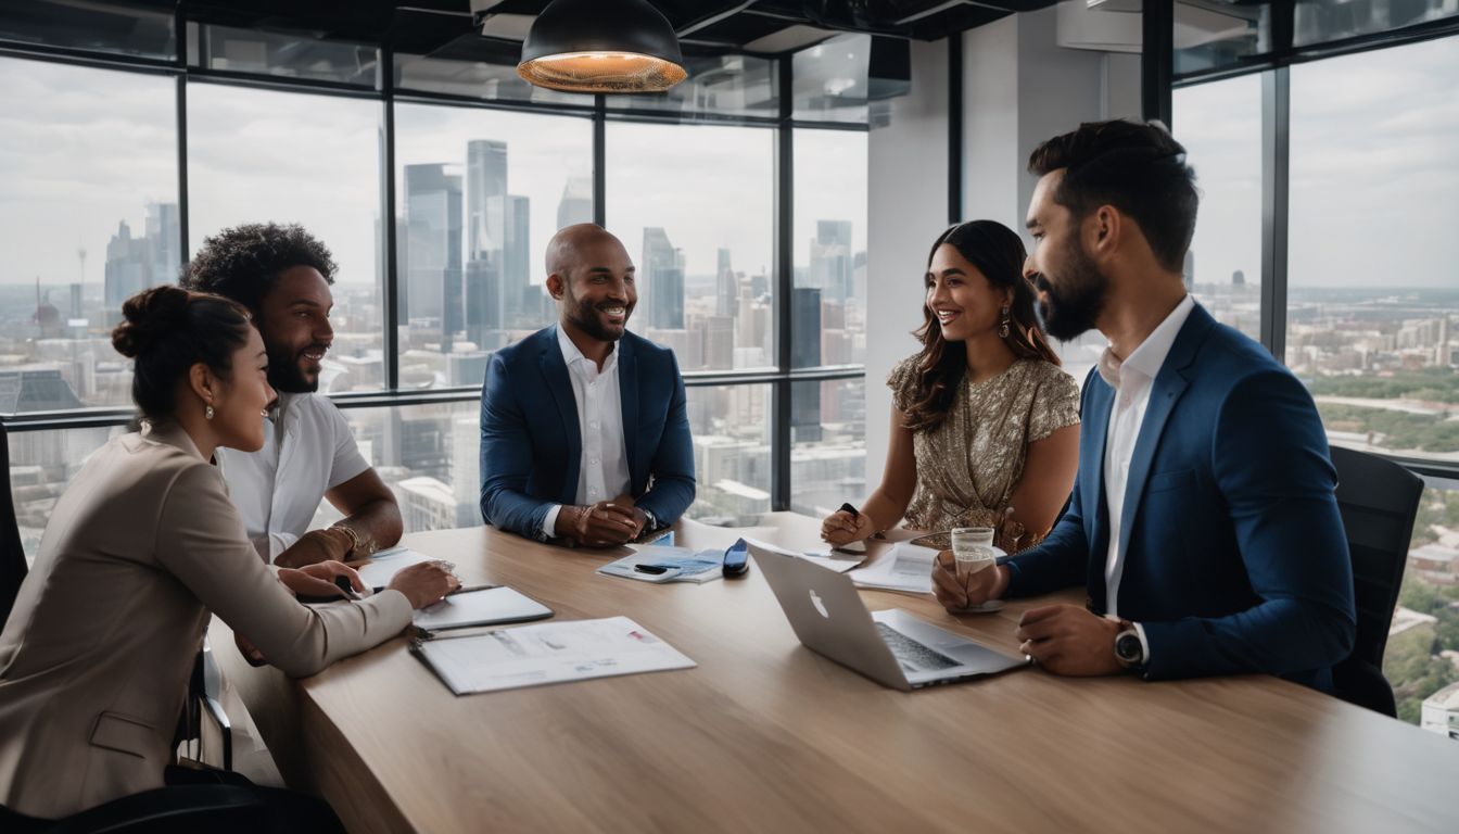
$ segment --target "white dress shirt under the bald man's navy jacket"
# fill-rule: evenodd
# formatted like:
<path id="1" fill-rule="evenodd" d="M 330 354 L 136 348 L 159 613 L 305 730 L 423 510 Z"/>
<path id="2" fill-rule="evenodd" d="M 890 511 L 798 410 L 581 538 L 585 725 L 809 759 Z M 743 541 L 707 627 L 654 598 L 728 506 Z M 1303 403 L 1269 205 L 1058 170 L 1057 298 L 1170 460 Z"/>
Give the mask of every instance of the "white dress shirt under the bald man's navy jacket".
<path id="1" fill-rule="evenodd" d="M 557 326 L 557 348 L 568 362 L 572 399 L 578 403 L 578 435 L 582 438 L 582 460 L 578 464 L 578 504 L 597 504 L 617 498 L 633 486 L 629 457 L 623 440 L 623 399 L 619 391 L 619 346 L 598 364 L 582 355 L 572 339 Z M 557 513 L 562 504 L 547 510 L 543 536 L 557 535 Z"/>

